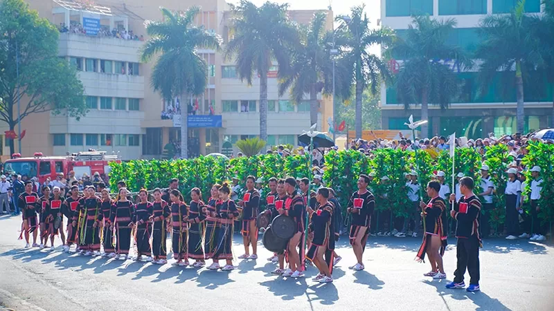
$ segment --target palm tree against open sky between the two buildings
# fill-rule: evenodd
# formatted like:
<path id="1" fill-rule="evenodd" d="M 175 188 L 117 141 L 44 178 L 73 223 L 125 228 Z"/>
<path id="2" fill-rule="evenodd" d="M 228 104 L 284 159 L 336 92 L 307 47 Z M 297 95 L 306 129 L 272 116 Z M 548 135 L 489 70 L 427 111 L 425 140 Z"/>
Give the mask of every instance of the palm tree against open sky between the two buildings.
<path id="1" fill-rule="evenodd" d="M 386 47 L 393 39 L 393 32 L 388 28 L 372 30 L 369 28 L 369 19 L 364 13 L 365 6 L 355 6 L 350 15 L 337 17 L 340 21 L 337 28 L 336 45 L 343 52 L 339 59 L 339 68 L 350 68 L 353 75 L 348 80 L 339 82 L 339 85 L 356 85 L 356 138 L 361 138 L 361 100 L 362 93 L 367 86 L 375 94 L 379 86 L 379 78 L 388 82 L 391 80 L 388 66 L 382 59 L 369 52 L 371 46 L 380 44 Z M 348 97 L 350 89 L 339 87 L 339 94 Z"/>

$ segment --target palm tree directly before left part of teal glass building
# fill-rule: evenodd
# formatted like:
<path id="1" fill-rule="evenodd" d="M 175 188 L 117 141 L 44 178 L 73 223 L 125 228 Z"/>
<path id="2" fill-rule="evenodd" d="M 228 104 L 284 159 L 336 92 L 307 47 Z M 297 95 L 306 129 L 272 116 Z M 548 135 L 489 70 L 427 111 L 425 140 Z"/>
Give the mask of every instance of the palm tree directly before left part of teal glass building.
<path id="1" fill-rule="evenodd" d="M 429 120 L 429 104 L 447 108 L 460 91 L 460 82 L 451 66 L 436 59 L 452 59 L 461 68 L 471 66 L 470 59 L 456 46 L 447 44 L 447 37 L 456 26 L 454 19 L 437 21 L 429 15 L 414 16 L 406 37 L 397 37 L 391 53 L 401 59 L 395 88 L 406 109 L 421 104 L 421 119 Z M 422 136 L 429 135 L 427 124 Z"/>

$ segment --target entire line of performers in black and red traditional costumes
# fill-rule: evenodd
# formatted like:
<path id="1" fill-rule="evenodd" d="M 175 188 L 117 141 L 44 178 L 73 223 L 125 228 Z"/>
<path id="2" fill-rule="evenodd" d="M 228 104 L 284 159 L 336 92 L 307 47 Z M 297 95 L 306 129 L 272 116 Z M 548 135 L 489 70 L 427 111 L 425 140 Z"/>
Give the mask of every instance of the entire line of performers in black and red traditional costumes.
<path id="1" fill-rule="evenodd" d="M 135 261 L 153 261 L 163 265 L 168 263 L 166 236 L 171 233 L 172 253 L 175 258 L 172 265 L 204 267 L 206 260 L 211 259 L 213 263 L 208 269 L 229 271 L 235 268 L 233 232 L 235 221 L 242 213 L 240 231 L 244 254 L 238 258 L 258 258 L 256 245 L 259 229 L 256 226 L 256 218 L 260 212 L 261 198 L 259 192 L 254 189 L 253 176 L 247 177 L 247 191 L 236 205 L 230 200 L 231 189 L 226 183 L 213 185 L 207 204 L 202 201 L 201 191 L 198 188 L 192 189 L 191 200 L 186 204 L 181 192 L 175 189 L 177 182 L 172 180 L 175 187 L 170 187 L 166 193 L 154 189 L 152 202 L 148 201 L 148 192 L 142 189 L 139 191 L 139 203 L 136 204 L 128 197 L 125 187 L 120 187 L 116 200 L 109 197 L 106 189 L 102 190 L 99 198 L 93 187 L 87 187 L 84 196 L 80 196 L 76 186 L 71 187 L 71 194 L 66 198 L 57 187 L 53 188 L 52 194 L 50 189 L 45 187 L 42 189 L 43 196 L 39 197 L 32 191 L 32 183 L 27 182 L 26 191 L 18 199 L 19 207 L 24 211 L 21 232 L 26 238 L 26 247 L 29 247 L 30 233 L 33 233 L 33 246 L 38 246 L 36 238 L 39 227 L 43 245 L 50 238 L 53 247 L 54 237 L 60 234 L 66 252 L 69 252 L 72 245 L 76 245 L 76 250 L 84 256 L 101 255 L 116 259 L 127 259 L 130 247 L 136 245 Z M 351 270 L 365 269 L 362 256 L 369 235 L 370 219 L 375 209 L 375 199 L 368 191 L 369 182 L 368 176 L 359 176 L 358 190 L 350 197 L 346 209 L 352 218 L 349 239 L 357 261 L 350 267 Z M 463 288 L 463 275 L 467 268 L 471 276 L 470 288 L 467 290 L 479 290 L 481 202 L 473 194 L 472 178 L 462 178 L 460 185 L 463 196 L 450 211 L 450 216 L 457 220 L 458 265 L 454 272 L 456 278 L 447 288 Z M 303 277 L 306 263 L 313 263 L 319 270 L 314 281 L 332 282 L 332 267 L 341 258 L 334 251 L 334 245 L 342 226 L 341 207 L 334 198 L 334 191 L 324 187 L 317 192 L 310 191 L 307 178 L 299 183 L 294 178 L 270 178 L 268 187 L 270 191 L 265 196 L 267 210 L 263 213 L 271 219 L 278 215 L 286 215 L 296 224 L 296 232 L 287 242 L 283 252 L 269 258 L 269 261 L 278 262 L 278 267 L 272 274 L 292 278 Z M 428 256 L 431 272 L 425 276 L 434 279 L 446 277 L 442 256 L 446 246 L 443 214 L 447 213 L 447 205 L 438 195 L 439 191 L 438 182 L 429 182 L 427 195 L 431 200 L 427 204 L 420 203 L 425 234 L 416 256 L 418 261 L 424 261 L 425 255 Z M 455 200 L 454 194 L 449 200 Z M 66 241 L 62 229 L 63 216 L 70 220 L 66 225 Z M 249 252 L 250 246 L 252 254 Z M 101 247 L 104 251 L 102 254 Z M 190 264 L 189 259 L 195 262 Z M 220 260 L 226 261 L 223 267 L 220 266 Z M 288 265 L 286 269 L 285 262 Z"/>

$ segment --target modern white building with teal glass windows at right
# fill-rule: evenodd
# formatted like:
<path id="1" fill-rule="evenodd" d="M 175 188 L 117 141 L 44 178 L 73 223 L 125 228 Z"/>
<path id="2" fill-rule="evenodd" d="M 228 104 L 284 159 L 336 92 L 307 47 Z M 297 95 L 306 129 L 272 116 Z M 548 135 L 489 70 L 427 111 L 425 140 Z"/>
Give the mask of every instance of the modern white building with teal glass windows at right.
<path id="1" fill-rule="evenodd" d="M 402 37 L 411 15 L 427 14 L 434 19 L 456 19 L 457 25 L 449 42 L 463 48 L 471 55 L 479 44 L 479 21 L 486 15 L 506 14 L 513 10 L 518 0 L 382 0 L 382 26 L 388 26 Z M 540 14 L 544 8 L 540 0 L 526 0 L 527 13 Z M 499 73 L 488 92 L 479 92 L 478 72 L 452 70 L 463 82 L 461 95 L 448 109 L 429 105 L 429 137 L 434 135 L 465 135 L 468 138 L 485 137 L 488 133 L 500 136 L 516 132 L 516 94 L 510 86 L 510 73 Z M 513 73 L 512 73 L 513 74 Z M 506 79 L 505 79 L 506 78 Z M 513 79 L 512 79 L 513 80 Z M 525 131 L 548 126 L 551 115 L 553 90 L 546 82 L 525 89 Z M 404 122 L 413 114 L 420 115 L 420 106 L 410 110 L 397 98 L 394 88 L 383 86 L 381 92 L 382 125 L 384 129 L 405 129 Z"/>

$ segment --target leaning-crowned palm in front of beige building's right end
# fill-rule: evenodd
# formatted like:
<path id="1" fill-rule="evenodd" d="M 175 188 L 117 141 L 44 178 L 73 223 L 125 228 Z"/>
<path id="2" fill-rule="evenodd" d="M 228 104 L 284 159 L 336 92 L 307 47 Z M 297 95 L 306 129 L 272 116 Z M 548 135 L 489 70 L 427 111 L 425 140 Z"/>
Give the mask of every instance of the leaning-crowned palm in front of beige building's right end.
<path id="1" fill-rule="evenodd" d="M 290 88 L 291 98 L 296 104 L 303 100 L 305 93 L 310 94 L 310 126 L 317 122 L 317 94 L 332 83 L 323 82 L 325 77 L 332 75 L 332 61 L 326 48 L 332 34 L 325 33 L 325 19 L 324 12 L 317 12 L 310 26 L 301 28 L 301 43 L 293 55 L 290 72 L 284 73 L 279 81 L 279 96 Z"/>

